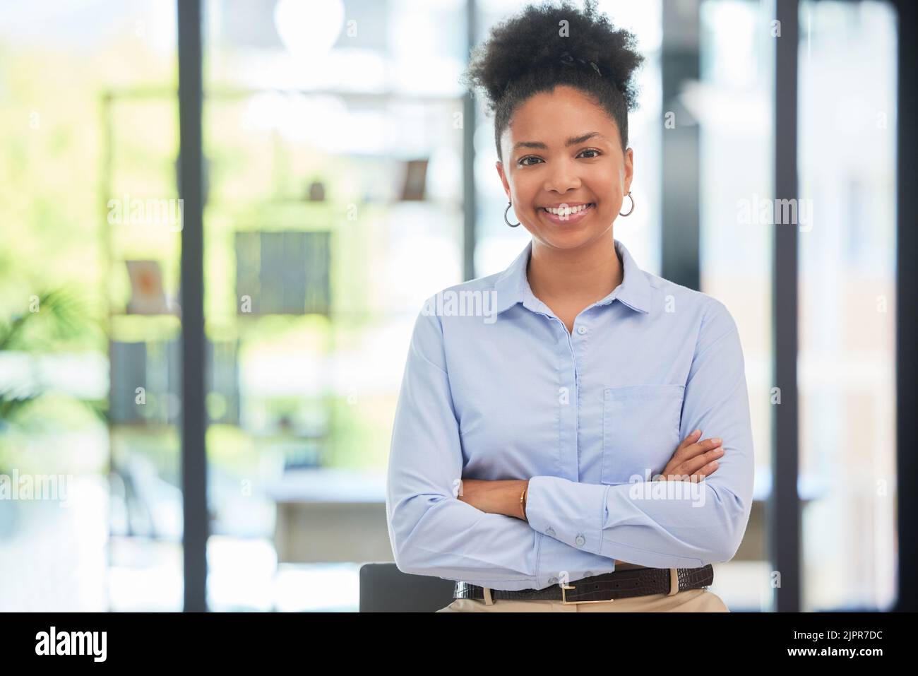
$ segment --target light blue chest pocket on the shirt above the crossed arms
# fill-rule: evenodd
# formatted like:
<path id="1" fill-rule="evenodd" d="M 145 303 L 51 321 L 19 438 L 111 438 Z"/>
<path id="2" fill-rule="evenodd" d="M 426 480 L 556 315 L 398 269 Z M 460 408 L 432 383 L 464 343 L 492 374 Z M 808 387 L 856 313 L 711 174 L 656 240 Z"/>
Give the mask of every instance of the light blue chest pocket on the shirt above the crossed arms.
<path id="1" fill-rule="evenodd" d="M 676 452 L 684 385 L 626 385 L 604 388 L 602 483 L 645 480 L 663 472 Z"/>

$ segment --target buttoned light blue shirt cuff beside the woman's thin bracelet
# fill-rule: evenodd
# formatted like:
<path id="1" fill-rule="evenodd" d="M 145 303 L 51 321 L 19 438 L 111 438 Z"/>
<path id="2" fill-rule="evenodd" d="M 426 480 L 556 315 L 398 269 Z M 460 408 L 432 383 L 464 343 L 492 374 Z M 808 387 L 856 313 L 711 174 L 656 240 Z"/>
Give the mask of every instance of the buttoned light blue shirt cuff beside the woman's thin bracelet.
<path id="1" fill-rule="evenodd" d="M 561 477 L 532 477 L 526 520 L 533 530 L 593 554 L 602 550 L 610 486 Z"/>

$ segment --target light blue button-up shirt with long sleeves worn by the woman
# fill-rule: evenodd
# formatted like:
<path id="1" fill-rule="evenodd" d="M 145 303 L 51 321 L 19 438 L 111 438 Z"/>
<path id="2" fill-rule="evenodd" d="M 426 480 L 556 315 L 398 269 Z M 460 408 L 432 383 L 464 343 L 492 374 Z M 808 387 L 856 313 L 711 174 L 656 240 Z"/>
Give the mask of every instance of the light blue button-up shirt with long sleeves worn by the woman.
<path id="1" fill-rule="evenodd" d="M 641 270 L 568 332 L 532 295 L 532 241 L 503 272 L 427 299 L 399 390 L 386 485 L 398 569 L 542 589 L 615 569 L 733 558 L 753 498 L 736 324 Z M 693 430 L 724 454 L 697 484 L 654 481 Z M 528 521 L 461 501 L 461 479 L 530 479 Z"/>

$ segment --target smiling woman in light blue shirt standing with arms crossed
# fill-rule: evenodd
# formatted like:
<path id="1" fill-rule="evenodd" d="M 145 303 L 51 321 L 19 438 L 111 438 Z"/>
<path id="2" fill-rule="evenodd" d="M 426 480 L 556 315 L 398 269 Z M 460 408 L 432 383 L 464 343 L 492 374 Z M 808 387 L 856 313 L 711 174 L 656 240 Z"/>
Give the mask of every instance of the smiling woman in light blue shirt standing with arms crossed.
<path id="1" fill-rule="evenodd" d="M 752 504 L 744 357 L 720 301 L 613 238 L 634 208 L 633 36 L 592 3 L 531 6 L 473 57 L 507 222 L 532 240 L 420 310 L 389 457 L 397 567 L 456 580 L 442 611 L 727 611 L 707 586 Z"/>

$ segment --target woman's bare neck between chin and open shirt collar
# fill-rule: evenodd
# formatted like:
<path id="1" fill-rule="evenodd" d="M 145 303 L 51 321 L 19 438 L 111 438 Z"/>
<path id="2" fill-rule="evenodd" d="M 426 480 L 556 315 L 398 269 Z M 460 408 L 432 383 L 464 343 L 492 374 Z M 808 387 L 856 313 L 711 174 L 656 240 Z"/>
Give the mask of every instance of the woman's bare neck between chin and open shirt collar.
<path id="1" fill-rule="evenodd" d="M 624 270 L 610 236 L 571 251 L 532 240 L 526 274 L 532 294 L 538 299 L 593 303 L 621 284 Z"/>

